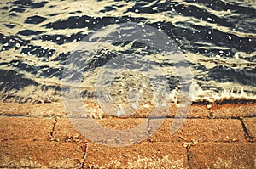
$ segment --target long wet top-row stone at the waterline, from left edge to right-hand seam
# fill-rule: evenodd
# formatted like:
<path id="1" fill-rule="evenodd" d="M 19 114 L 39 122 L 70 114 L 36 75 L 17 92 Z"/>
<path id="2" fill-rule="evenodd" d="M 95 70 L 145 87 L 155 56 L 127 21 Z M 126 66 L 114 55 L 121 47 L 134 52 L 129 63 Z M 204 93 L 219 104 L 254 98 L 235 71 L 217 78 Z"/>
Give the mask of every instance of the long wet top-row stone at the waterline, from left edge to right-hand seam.
<path id="1" fill-rule="evenodd" d="M 104 110 L 95 101 L 87 101 L 82 104 L 82 108 L 73 105 L 73 110 L 87 110 L 87 114 L 94 118 L 104 118 L 117 116 L 116 114 L 109 114 L 108 110 Z M 137 111 L 131 115 L 124 115 L 124 118 L 148 118 L 153 112 L 152 104 L 142 105 Z M 69 110 L 68 108 L 67 110 Z M 63 103 L 51 104 L 14 104 L 14 103 L 0 103 L 0 115 L 30 115 L 30 116 L 63 116 L 67 115 L 67 110 Z M 72 109 L 70 109 L 72 110 Z M 166 112 L 167 117 L 175 117 L 177 115 L 176 105 L 170 105 Z M 162 116 L 162 112 L 156 112 L 155 116 Z M 189 114 L 182 115 L 183 117 L 201 117 L 207 118 L 209 110 L 205 105 L 193 105 L 190 107 Z"/>

